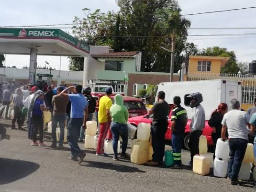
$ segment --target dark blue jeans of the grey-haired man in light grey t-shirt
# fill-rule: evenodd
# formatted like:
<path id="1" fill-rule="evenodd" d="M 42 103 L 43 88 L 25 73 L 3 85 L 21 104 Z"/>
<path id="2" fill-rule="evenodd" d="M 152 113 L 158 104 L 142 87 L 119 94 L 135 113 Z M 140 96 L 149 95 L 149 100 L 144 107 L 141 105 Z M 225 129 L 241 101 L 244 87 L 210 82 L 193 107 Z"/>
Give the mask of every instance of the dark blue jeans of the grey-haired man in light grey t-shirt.
<path id="1" fill-rule="evenodd" d="M 231 138 L 229 144 L 229 161 L 228 161 L 228 177 L 232 181 L 236 181 L 242 161 L 244 159 L 245 150 L 248 140 L 240 138 Z"/>

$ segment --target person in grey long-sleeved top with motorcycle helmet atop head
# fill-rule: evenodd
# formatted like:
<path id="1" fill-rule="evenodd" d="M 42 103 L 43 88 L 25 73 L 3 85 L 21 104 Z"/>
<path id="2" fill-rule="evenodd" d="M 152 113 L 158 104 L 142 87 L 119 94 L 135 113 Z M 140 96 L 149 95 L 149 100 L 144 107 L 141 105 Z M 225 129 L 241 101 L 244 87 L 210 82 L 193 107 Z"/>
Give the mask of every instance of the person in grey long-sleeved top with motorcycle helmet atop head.
<path id="1" fill-rule="evenodd" d="M 191 160 L 188 165 L 193 166 L 193 157 L 196 154 L 199 154 L 199 138 L 202 135 L 205 126 L 205 112 L 204 108 L 200 104 L 203 101 L 203 96 L 201 93 L 192 93 L 187 97 L 191 98 L 190 107 L 193 111 L 190 124 L 190 140 L 188 142 Z"/>

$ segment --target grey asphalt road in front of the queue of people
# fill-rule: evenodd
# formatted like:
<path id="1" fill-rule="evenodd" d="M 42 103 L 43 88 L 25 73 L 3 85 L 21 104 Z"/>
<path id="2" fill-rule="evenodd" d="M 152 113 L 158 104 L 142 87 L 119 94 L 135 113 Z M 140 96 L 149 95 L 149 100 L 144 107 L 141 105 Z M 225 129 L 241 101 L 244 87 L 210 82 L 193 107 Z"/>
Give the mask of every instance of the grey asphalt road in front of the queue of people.
<path id="1" fill-rule="evenodd" d="M 6 120 L 2 123 L 10 124 Z M 0 142 L 1 192 L 254 191 L 252 181 L 230 186 L 226 179 L 212 175 L 113 161 L 111 157 L 95 156 L 94 150 L 86 150 L 87 156 L 79 166 L 68 159 L 68 145 L 64 150 L 51 149 L 47 135 L 48 147 L 40 148 L 30 145 L 25 131 L 8 128 L 8 133 L 11 139 Z M 131 145 L 128 147 L 130 153 Z M 188 151 L 182 151 L 182 159 L 188 162 Z"/>

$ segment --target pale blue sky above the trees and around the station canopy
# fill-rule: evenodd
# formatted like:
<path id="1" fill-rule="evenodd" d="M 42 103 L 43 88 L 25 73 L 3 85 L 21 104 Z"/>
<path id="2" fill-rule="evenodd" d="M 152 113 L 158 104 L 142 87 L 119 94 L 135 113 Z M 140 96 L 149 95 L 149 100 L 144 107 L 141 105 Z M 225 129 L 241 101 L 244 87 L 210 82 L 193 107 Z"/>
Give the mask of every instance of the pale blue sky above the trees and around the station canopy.
<path id="1" fill-rule="evenodd" d="M 72 3 L 71 3 L 72 2 Z M 183 14 L 207 12 L 225 9 L 252 7 L 255 0 L 179 0 Z M 83 8 L 118 11 L 115 0 L 8 0 L 1 4 L 0 26 L 42 25 L 57 23 L 72 23 L 74 16 L 83 17 Z M 213 27 L 256 27 L 256 9 L 223 12 L 205 15 L 187 16 L 191 20 L 191 28 Z M 225 33 L 255 33 L 256 29 L 226 29 L 226 30 L 195 30 L 190 29 L 189 35 L 225 34 Z M 243 36 L 244 37 L 244 36 Z M 250 62 L 256 60 L 256 35 L 250 37 L 194 37 L 188 38 L 199 48 L 208 46 L 226 47 L 235 51 L 239 61 Z M 48 61 L 53 68 L 59 69 L 60 57 L 38 56 L 38 65 L 44 66 Z M 18 68 L 29 66 L 29 56 L 7 55 L 6 66 L 16 65 Z M 62 57 L 61 69 L 68 70 L 68 59 Z"/>

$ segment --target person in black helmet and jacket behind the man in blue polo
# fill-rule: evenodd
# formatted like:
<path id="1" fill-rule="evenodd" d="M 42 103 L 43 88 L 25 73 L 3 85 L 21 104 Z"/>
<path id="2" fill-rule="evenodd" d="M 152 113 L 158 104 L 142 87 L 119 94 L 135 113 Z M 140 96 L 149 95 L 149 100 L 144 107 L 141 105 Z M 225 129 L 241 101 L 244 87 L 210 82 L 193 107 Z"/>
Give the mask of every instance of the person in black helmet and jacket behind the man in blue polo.
<path id="1" fill-rule="evenodd" d="M 92 92 L 92 89 L 90 87 L 86 87 L 82 90 L 82 94 L 84 95 L 84 97 L 87 99 L 87 102 L 88 102 L 87 121 L 92 121 L 93 114 L 94 114 L 95 108 L 96 108 L 96 100 L 94 99 L 94 97 L 92 97 L 91 92 Z M 80 136 L 79 136 L 78 142 L 82 143 L 83 139 L 84 139 L 84 129 L 82 126 L 80 129 Z"/>

